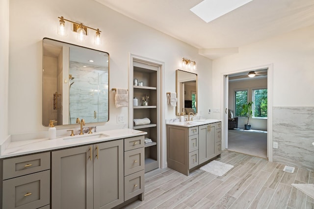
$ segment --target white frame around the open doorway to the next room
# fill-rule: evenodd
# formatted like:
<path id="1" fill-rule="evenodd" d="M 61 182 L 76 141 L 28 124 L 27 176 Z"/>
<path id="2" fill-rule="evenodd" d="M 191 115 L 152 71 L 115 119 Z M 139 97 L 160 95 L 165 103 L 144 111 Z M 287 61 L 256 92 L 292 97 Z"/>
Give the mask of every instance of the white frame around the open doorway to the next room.
<path id="1" fill-rule="evenodd" d="M 228 110 L 228 75 L 238 73 L 238 72 L 245 72 L 245 71 L 252 71 L 258 69 L 267 68 L 267 158 L 268 161 L 273 161 L 273 64 L 268 64 L 265 66 L 259 66 L 249 69 L 242 69 L 242 70 L 235 70 L 232 72 L 224 73 L 223 76 L 223 116 L 224 119 L 224 130 L 223 130 L 223 141 L 222 141 L 222 148 L 228 148 L 228 111 L 226 112 L 226 108 Z M 226 78 L 227 76 L 227 78 Z"/>

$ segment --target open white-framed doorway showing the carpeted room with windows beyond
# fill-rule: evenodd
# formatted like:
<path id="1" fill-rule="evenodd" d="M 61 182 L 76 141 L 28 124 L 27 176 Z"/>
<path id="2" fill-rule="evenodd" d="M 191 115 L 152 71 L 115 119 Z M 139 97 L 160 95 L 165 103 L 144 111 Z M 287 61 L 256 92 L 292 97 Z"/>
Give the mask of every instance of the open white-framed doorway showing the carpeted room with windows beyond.
<path id="1" fill-rule="evenodd" d="M 255 77 L 248 77 L 248 74 L 255 73 Z M 246 70 L 237 70 L 224 74 L 224 140 L 223 148 L 244 154 L 255 155 L 268 158 L 272 161 L 272 65 L 252 68 Z M 249 80 L 250 79 L 250 80 Z M 262 105 L 259 93 L 267 92 L 266 106 Z M 235 98 L 236 93 L 247 98 Z M 243 95 L 241 94 L 243 93 Z M 247 94 L 245 94 L 247 93 Z M 264 96 L 265 97 L 265 96 Z M 237 99 L 237 100 L 236 100 Z M 249 118 L 252 125 L 251 130 L 244 131 L 244 124 L 247 123 L 247 117 L 240 115 L 241 99 L 245 102 L 253 101 L 253 115 Z M 265 98 L 264 98 L 265 99 Z M 242 101 L 242 102 L 243 102 Z M 233 112 L 230 121 L 230 111 Z M 231 125 L 228 125 L 228 124 Z M 260 141 L 258 141 L 260 140 Z M 254 143 L 256 142 L 256 143 Z M 254 151 L 254 149 L 257 149 Z"/>

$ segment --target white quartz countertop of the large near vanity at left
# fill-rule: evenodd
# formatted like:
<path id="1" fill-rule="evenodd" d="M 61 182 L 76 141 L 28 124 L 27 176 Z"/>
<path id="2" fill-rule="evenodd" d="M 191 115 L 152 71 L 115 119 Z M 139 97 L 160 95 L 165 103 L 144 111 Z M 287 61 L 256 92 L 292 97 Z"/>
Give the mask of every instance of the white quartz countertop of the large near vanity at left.
<path id="1" fill-rule="evenodd" d="M 82 137 L 96 136 L 105 134 L 107 136 L 94 139 L 83 139 Z M 1 153 L 0 158 L 15 157 L 19 155 L 33 154 L 37 152 L 50 151 L 55 149 L 69 148 L 73 146 L 105 142 L 115 139 L 124 139 L 147 134 L 146 132 L 133 129 L 117 129 L 110 131 L 97 132 L 93 134 L 76 135 L 73 137 L 63 136 L 56 139 L 31 139 L 21 141 L 11 141 Z"/>

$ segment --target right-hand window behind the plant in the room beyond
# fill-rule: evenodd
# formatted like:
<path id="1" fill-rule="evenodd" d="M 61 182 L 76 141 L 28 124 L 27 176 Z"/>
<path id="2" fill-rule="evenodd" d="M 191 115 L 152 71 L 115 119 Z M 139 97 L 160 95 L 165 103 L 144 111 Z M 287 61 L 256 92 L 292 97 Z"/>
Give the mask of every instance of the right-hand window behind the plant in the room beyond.
<path id="1" fill-rule="evenodd" d="M 267 117 L 267 89 L 256 89 L 252 92 L 253 117 Z"/>

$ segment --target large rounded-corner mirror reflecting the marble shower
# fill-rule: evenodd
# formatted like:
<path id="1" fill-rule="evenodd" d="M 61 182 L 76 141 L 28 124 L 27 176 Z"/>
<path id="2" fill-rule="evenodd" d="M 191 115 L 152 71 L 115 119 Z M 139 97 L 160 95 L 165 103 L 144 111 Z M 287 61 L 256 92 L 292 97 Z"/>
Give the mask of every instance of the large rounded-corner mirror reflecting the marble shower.
<path id="1" fill-rule="evenodd" d="M 109 120 L 109 54 L 43 39 L 42 123 L 49 126 Z"/>

